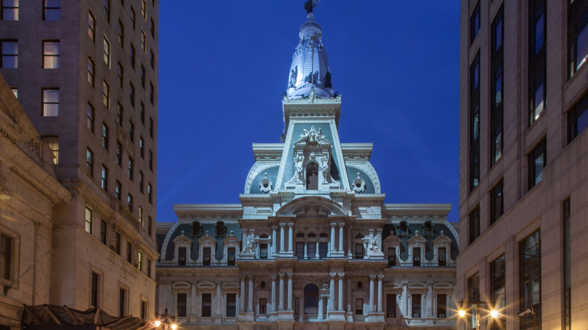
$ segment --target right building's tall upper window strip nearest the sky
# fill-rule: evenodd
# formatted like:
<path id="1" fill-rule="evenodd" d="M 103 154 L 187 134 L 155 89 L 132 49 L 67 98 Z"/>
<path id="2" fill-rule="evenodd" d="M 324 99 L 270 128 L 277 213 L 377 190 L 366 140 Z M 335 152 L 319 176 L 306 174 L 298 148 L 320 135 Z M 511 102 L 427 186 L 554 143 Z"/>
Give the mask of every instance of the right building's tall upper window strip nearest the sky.
<path id="1" fill-rule="evenodd" d="M 470 191 L 480 181 L 480 53 L 470 65 Z"/>

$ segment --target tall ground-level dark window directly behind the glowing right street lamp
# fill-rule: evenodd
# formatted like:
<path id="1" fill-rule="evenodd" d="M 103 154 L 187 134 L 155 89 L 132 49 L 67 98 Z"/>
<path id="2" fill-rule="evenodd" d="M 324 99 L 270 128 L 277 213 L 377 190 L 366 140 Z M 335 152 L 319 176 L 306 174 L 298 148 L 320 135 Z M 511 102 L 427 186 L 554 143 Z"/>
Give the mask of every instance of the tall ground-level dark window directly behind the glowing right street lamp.
<path id="1" fill-rule="evenodd" d="M 505 255 L 501 255 L 494 261 L 490 262 L 490 301 L 493 309 L 496 309 L 499 318 L 490 318 L 490 329 L 505 329 L 505 302 L 506 302 L 506 268 Z"/>

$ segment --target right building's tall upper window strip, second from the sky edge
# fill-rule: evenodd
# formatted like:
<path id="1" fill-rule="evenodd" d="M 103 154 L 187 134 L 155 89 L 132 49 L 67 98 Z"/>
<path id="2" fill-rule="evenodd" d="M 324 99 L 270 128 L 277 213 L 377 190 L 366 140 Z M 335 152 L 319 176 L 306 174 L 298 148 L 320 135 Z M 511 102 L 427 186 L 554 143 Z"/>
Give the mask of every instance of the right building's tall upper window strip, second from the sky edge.
<path id="1" fill-rule="evenodd" d="M 490 34 L 492 47 L 490 48 L 490 76 L 492 82 L 490 89 L 492 99 L 490 100 L 490 166 L 502 157 L 504 152 L 504 93 L 503 91 L 503 65 L 504 65 L 504 24 L 503 8 L 501 7 L 492 22 Z"/>

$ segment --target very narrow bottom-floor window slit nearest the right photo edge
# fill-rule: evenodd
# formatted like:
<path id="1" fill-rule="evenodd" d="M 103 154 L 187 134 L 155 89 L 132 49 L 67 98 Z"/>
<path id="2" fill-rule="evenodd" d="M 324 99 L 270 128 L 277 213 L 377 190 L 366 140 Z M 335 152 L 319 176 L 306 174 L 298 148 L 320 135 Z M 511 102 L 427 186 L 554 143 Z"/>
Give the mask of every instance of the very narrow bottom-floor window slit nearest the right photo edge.
<path id="1" fill-rule="evenodd" d="M 572 207 L 563 201 L 563 330 L 572 329 Z"/>

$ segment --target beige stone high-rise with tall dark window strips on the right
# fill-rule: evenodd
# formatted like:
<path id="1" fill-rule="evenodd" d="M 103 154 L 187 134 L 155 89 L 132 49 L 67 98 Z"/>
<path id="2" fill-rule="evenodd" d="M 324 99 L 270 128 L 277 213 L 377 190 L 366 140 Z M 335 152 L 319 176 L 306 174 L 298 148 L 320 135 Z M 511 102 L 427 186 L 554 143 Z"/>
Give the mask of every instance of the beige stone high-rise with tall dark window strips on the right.
<path id="1" fill-rule="evenodd" d="M 587 8 L 462 0 L 459 329 L 585 327 Z"/>

